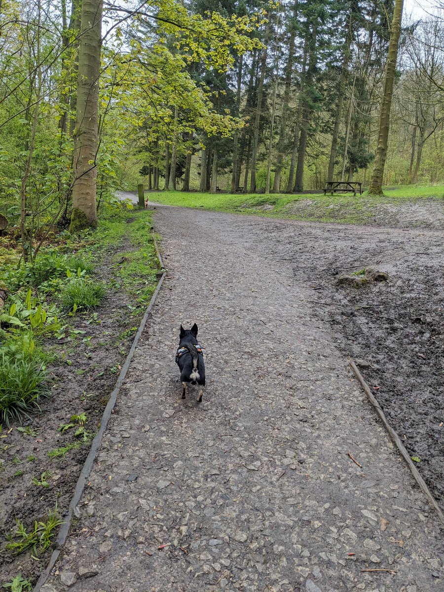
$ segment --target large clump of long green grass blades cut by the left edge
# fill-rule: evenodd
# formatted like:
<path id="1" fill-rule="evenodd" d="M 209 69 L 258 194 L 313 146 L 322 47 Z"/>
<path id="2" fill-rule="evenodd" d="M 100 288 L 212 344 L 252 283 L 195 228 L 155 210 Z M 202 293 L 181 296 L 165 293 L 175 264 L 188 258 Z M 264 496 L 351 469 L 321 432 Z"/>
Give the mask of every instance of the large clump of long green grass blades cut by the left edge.
<path id="1" fill-rule="evenodd" d="M 21 421 L 24 415 L 38 407 L 38 400 L 46 391 L 46 371 L 33 350 L 20 351 L 14 347 L 0 349 L 0 424 Z M 20 348 L 20 346 L 19 346 Z"/>

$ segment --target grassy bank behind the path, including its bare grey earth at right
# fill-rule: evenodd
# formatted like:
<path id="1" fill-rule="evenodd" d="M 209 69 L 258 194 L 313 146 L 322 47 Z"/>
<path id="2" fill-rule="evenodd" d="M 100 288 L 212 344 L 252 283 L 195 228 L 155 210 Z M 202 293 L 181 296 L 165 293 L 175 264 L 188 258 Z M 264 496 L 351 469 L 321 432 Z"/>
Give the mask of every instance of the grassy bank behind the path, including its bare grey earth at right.
<path id="1" fill-rule="evenodd" d="M 362 194 L 201 194 L 198 192 L 150 192 L 150 201 L 168 205 L 289 218 L 314 222 L 365 224 L 395 228 L 444 226 L 444 186 L 397 186 L 385 195 Z"/>

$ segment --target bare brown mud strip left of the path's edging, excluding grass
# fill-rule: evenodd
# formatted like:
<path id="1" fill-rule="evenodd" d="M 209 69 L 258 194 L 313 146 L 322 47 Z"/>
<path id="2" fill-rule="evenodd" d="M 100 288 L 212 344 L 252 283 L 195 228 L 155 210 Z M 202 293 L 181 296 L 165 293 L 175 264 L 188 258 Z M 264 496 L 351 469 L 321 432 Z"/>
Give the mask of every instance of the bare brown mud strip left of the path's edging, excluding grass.
<path id="1" fill-rule="evenodd" d="M 49 396 L 41 399 L 41 414 L 25 419 L 22 426 L 4 426 L 0 435 L 0 585 L 17 574 L 35 583 L 49 560 L 52 548 L 40 556 L 41 561 L 32 559 L 30 552 L 14 557 L 5 551 L 6 538 L 15 530 L 16 518 L 30 529 L 34 520 L 46 520 L 56 504 L 59 516 L 67 511 L 92 436 L 143 316 L 134 297 L 120 288 L 119 263 L 113 259 L 116 253 L 131 248 L 128 240 L 107 250 L 96 262 L 94 276 L 108 285 L 104 303 L 95 311 L 63 318 L 65 336 L 44 342 L 57 359 L 49 366 L 51 388 Z M 134 313 L 135 309 L 138 312 Z M 75 429 L 58 431 L 79 413 L 88 418 L 85 428 L 90 437 L 79 448 L 67 451 L 65 458 L 49 458 L 48 452 L 79 443 Z"/>

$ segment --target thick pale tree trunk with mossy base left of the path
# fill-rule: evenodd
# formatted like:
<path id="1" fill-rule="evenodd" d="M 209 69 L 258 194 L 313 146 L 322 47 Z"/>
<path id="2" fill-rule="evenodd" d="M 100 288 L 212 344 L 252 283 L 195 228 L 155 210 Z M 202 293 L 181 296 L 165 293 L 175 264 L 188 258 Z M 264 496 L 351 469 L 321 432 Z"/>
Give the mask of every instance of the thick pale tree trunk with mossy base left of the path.
<path id="1" fill-rule="evenodd" d="M 99 0 L 82 0 L 79 43 L 74 181 L 70 231 L 97 226 L 97 166 L 99 146 L 99 75 L 102 44 L 102 9 Z"/>

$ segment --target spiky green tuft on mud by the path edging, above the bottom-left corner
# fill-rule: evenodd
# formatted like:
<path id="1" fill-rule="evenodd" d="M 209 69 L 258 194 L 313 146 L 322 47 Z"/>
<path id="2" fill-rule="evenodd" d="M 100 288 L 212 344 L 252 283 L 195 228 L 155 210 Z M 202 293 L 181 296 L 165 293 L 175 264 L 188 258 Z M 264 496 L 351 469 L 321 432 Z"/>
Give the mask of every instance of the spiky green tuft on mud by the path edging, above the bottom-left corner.
<path id="1" fill-rule="evenodd" d="M 7 551 L 11 551 L 13 555 L 20 555 L 31 549 L 31 557 L 37 561 L 40 561 L 39 556 L 51 545 L 57 528 L 63 524 L 63 520 L 57 515 L 57 504 L 54 510 L 48 513 L 46 522 L 34 520 L 33 529 L 29 532 L 20 519 L 16 518 L 15 521 L 17 528 L 8 535 Z"/>

